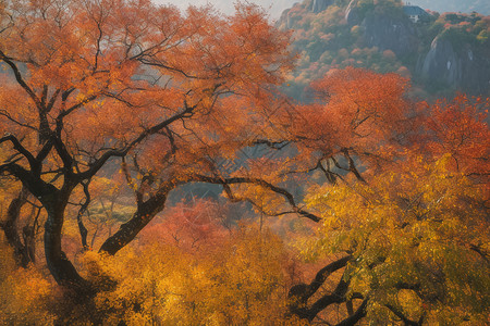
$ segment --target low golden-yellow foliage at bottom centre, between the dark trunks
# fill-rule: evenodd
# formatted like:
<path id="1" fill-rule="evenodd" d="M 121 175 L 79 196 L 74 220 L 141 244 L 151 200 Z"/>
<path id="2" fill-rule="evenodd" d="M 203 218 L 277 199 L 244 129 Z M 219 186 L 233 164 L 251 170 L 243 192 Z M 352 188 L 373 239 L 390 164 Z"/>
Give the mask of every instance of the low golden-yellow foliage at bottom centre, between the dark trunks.
<path id="1" fill-rule="evenodd" d="M 176 246 L 87 252 L 88 278 L 105 324 L 272 325 L 286 323 L 282 241 L 242 227 L 222 246 L 188 253 Z"/>

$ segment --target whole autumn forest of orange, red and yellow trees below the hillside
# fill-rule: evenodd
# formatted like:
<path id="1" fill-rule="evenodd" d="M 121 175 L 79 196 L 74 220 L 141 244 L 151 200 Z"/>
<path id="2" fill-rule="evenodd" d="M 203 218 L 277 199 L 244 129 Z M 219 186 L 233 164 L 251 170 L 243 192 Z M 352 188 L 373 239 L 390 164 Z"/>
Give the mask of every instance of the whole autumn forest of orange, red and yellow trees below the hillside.
<path id="1" fill-rule="evenodd" d="M 0 324 L 486 325 L 490 99 L 345 65 L 301 101 L 292 42 L 1 1 Z"/>

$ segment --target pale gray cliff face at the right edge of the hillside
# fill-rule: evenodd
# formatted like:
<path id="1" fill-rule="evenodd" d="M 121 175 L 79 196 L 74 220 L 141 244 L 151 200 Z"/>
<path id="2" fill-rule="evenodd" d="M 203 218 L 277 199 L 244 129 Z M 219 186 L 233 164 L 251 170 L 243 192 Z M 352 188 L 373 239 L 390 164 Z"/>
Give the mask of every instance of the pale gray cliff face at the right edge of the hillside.
<path id="1" fill-rule="evenodd" d="M 455 50 L 449 40 L 436 38 L 417 70 L 429 82 L 442 82 L 469 93 L 490 93 L 490 60 L 469 46 Z"/>

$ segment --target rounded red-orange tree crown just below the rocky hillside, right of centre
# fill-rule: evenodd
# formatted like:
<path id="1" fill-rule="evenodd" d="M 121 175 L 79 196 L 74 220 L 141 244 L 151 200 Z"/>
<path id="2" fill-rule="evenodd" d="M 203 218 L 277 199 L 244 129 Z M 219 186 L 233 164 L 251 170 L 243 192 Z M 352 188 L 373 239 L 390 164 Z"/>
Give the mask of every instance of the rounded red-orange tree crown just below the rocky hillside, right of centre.
<path id="1" fill-rule="evenodd" d="M 409 139 L 416 108 L 404 97 L 407 79 L 347 67 L 331 71 L 311 87 L 317 101 L 296 109 L 290 129 L 301 160 L 330 183 L 346 172 L 363 180 L 363 170 L 376 172 Z"/>

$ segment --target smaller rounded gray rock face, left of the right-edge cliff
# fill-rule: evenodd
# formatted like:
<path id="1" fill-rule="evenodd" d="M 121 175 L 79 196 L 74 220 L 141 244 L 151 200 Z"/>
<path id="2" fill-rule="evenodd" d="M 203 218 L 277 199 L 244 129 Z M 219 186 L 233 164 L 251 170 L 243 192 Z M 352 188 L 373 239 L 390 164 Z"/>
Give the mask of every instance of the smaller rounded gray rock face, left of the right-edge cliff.
<path id="1" fill-rule="evenodd" d="M 375 13 L 364 18 L 362 27 L 369 47 L 378 47 L 380 51 L 392 50 L 399 57 L 417 51 L 417 30 L 407 17 Z"/>

